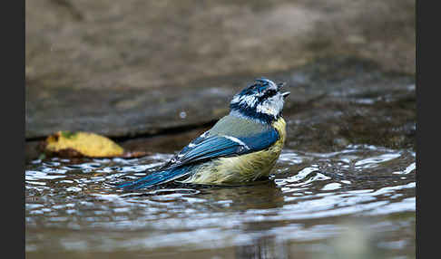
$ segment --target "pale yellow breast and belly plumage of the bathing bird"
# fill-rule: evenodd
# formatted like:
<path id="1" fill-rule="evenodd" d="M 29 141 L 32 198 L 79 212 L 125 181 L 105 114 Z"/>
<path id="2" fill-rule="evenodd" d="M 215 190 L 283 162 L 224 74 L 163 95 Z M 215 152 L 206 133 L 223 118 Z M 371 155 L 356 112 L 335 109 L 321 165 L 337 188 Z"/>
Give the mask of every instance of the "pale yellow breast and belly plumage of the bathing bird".
<path id="1" fill-rule="evenodd" d="M 279 132 L 279 140 L 269 149 L 232 157 L 218 158 L 197 169 L 197 172 L 184 182 L 199 184 L 240 184 L 259 177 L 268 177 L 276 164 L 285 143 L 286 122 L 280 117 L 272 126 Z"/>

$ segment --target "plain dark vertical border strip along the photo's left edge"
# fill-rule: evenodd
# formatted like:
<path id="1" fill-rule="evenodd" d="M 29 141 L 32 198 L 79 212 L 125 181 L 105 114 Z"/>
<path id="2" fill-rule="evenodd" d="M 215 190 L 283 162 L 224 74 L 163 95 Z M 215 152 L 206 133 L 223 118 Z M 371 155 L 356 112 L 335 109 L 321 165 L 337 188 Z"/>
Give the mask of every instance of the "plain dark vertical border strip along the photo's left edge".
<path id="1" fill-rule="evenodd" d="M 7 183 L 4 193 L 4 224 L 10 226 L 6 235 L 14 235 L 5 248 L 5 254 L 25 258 L 25 0 L 4 2 L 2 43 L 5 59 L 2 75 L 3 87 L 3 149 L 4 171 L 2 177 Z M 13 137 L 14 136 L 14 137 Z M 6 169 L 7 168 L 7 169 Z M 14 184 L 11 181 L 14 181 Z M 9 188 L 8 186 L 11 186 Z M 10 189 L 13 189 L 12 191 Z M 12 201 L 8 201 L 8 199 Z M 14 213 L 10 211 L 14 208 Z M 20 231 L 22 230 L 22 231 Z M 9 236 L 8 236 L 9 238 Z M 22 256 L 20 256 L 22 254 Z"/>

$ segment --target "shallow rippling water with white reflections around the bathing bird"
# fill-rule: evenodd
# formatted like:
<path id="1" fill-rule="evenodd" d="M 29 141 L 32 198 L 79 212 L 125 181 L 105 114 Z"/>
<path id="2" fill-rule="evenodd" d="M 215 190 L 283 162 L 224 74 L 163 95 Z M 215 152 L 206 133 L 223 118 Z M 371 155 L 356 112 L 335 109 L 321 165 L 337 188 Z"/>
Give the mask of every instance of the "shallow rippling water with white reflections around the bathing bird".
<path id="1" fill-rule="evenodd" d="M 274 176 L 242 187 L 123 192 L 171 158 L 50 158 L 25 170 L 33 258 L 415 258 L 416 154 L 349 145 L 284 149 Z"/>

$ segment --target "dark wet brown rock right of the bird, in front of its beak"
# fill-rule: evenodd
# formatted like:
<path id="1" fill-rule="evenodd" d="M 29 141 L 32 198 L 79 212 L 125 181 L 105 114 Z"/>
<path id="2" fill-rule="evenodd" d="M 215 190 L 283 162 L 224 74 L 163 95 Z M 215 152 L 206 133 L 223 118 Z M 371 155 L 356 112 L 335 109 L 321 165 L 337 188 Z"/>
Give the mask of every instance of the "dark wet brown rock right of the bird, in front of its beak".
<path id="1" fill-rule="evenodd" d="M 415 149 L 412 76 L 382 72 L 374 62 L 351 58 L 322 60 L 291 78 L 296 74 L 309 80 L 290 90 L 285 110 L 288 148 L 323 152 L 368 144 Z"/>

